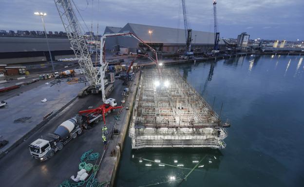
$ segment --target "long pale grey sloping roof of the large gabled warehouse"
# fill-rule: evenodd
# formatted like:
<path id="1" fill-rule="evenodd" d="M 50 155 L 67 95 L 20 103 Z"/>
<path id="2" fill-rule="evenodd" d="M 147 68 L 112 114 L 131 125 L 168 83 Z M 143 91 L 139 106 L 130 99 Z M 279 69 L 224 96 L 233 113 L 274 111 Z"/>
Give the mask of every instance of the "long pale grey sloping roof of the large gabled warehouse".
<path id="1" fill-rule="evenodd" d="M 151 37 L 149 31 L 152 31 Z M 127 23 L 119 32 L 132 32 L 136 34 L 140 39 L 148 43 L 150 43 L 150 39 L 152 43 L 186 43 L 184 29 Z M 194 43 L 195 40 L 196 44 L 213 44 L 214 34 L 204 31 L 192 31 L 192 39 L 192 43 Z M 222 43 L 224 44 L 223 41 L 220 42 L 220 44 Z"/>

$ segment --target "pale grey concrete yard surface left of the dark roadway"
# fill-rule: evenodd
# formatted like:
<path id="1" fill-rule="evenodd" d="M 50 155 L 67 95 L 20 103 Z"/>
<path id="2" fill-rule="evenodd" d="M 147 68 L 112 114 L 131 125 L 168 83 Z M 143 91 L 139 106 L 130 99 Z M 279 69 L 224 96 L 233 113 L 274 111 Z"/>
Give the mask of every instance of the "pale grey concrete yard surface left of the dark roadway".
<path id="1" fill-rule="evenodd" d="M 18 141 L 22 136 L 31 131 L 38 125 L 43 117 L 50 112 L 57 112 L 61 107 L 75 98 L 84 87 L 84 83 L 68 85 L 67 79 L 60 79 L 60 83 L 51 86 L 45 85 L 53 81 L 49 79 L 30 85 L 23 85 L 23 91 L 20 88 L 7 92 L 8 95 L 0 96 L 7 104 L 0 108 L 0 137 L 8 140 L 8 144 L 0 148 L 0 153 L 5 152 L 11 145 Z M 29 87 L 27 87 L 29 86 Z M 29 89 L 31 88 L 31 89 Z M 16 95 L 16 92 L 19 93 Z M 5 98 L 6 97 L 6 98 Z M 47 102 L 41 102 L 44 98 Z M 20 118 L 27 120 L 16 122 Z"/>

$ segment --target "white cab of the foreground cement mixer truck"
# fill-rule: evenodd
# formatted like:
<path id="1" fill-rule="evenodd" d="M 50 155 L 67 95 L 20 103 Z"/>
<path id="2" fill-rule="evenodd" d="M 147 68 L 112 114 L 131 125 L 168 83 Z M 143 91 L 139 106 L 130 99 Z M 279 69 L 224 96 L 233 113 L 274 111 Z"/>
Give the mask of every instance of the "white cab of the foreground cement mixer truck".
<path id="1" fill-rule="evenodd" d="M 38 138 L 36 141 L 29 145 L 30 153 L 33 158 L 39 160 L 46 160 L 48 152 L 52 149 L 50 141 Z"/>

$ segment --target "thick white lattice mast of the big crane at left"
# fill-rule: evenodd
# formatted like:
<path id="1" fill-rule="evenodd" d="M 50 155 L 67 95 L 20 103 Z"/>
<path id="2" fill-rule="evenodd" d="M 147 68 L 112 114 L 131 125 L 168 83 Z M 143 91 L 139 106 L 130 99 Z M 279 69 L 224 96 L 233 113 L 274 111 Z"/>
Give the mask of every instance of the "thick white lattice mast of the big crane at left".
<path id="1" fill-rule="evenodd" d="M 81 33 L 80 24 L 76 17 L 71 0 L 54 0 L 63 27 L 68 35 L 72 49 L 79 59 L 78 63 L 83 74 L 89 84 L 95 87 L 95 92 L 102 92 L 102 100 L 105 102 L 104 96 L 104 74 L 107 64 L 100 60 L 100 68 L 96 71 L 91 55 L 88 51 L 86 41 Z"/>

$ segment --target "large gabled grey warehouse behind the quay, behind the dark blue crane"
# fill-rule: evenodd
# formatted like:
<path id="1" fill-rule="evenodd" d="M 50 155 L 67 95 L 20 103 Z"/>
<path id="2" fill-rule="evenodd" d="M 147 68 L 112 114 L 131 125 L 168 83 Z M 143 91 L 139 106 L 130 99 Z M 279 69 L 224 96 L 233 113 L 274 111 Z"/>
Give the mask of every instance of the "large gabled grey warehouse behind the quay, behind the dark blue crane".
<path id="1" fill-rule="evenodd" d="M 157 51 L 166 53 L 177 52 L 179 49 L 185 49 L 186 37 L 184 29 L 127 23 L 122 28 L 106 27 L 104 34 L 129 32 L 137 35 L 140 39 L 152 46 Z M 208 51 L 214 46 L 214 33 L 192 31 L 192 39 L 191 49 L 193 51 Z M 107 50 L 118 51 L 118 48 L 127 48 L 130 52 L 147 50 L 144 45 L 141 45 L 141 43 L 133 37 L 115 36 L 107 38 Z M 225 43 L 220 40 L 219 49 L 224 50 L 225 48 Z"/>

